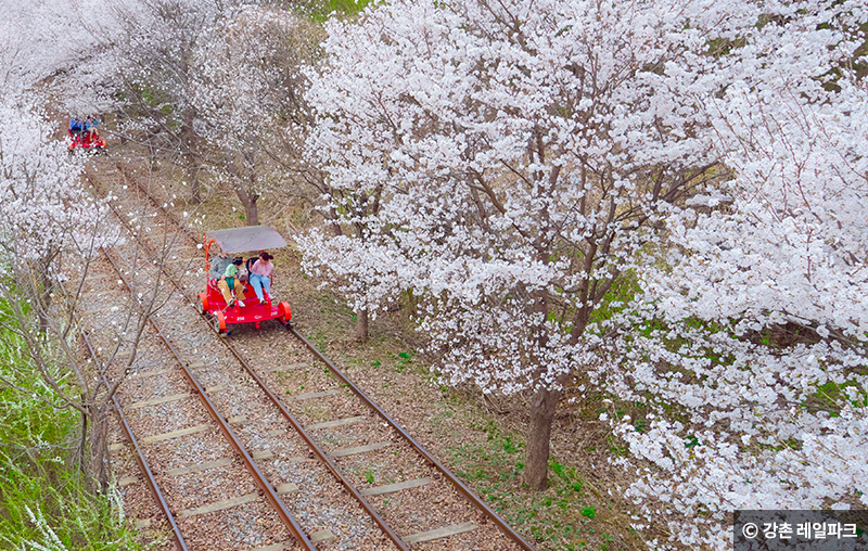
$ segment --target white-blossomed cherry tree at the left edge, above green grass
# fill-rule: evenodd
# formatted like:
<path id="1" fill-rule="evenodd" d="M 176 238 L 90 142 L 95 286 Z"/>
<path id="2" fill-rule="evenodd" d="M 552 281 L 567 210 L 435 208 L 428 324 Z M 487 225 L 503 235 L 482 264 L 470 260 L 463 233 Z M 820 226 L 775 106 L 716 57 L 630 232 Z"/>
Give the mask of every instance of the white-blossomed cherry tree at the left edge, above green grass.
<path id="1" fill-rule="evenodd" d="M 100 246 L 117 240 L 117 232 L 106 221 L 105 203 L 80 185 L 80 162 L 67 154 L 63 141 L 54 139 L 54 128 L 33 102 L 31 94 L 5 95 L 0 101 L 0 125 L 15 128 L 0 136 L 0 216 L 4 220 L 0 324 L 25 343 L 22 353 L 27 369 L 39 374 L 43 386 L 22 388 L 12 375 L 3 376 L 2 384 L 47 396 L 54 406 L 82 414 L 88 430 L 82 432 L 81 445 L 90 448 L 82 456 L 104 488 L 107 434 L 101 420 L 107 414 L 111 393 L 104 399 L 104 388 L 92 383 L 92 369 L 76 346 L 72 311 L 87 267 Z M 62 293 L 59 282 L 71 279 L 78 289 Z"/>

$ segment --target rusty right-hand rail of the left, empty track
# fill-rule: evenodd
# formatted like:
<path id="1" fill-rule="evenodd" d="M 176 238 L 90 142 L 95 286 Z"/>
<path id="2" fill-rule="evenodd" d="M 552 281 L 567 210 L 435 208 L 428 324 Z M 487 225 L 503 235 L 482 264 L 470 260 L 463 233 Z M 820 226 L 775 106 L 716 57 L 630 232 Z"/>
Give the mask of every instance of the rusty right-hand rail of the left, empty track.
<path id="1" fill-rule="evenodd" d="M 108 261 L 112 262 L 112 266 L 117 271 L 117 274 L 124 282 L 124 285 L 126 285 L 126 287 L 129 290 L 130 295 L 135 296 L 135 290 L 132 289 L 132 285 L 130 285 L 130 283 L 124 277 L 124 272 L 120 269 L 120 267 L 118 267 L 115 259 L 112 258 L 112 255 L 110 255 L 108 252 L 105 251 L 104 248 L 102 249 L 102 252 L 105 254 L 106 258 L 108 258 Z M 304 530 L 302 530 L 301 525 L 298 525 L 298 523 L 295 521 L 292 514 L 290 514 L 290 512 L 286 510 L 286 507 L 283 504 L 283 500 L 281 500 L 280 497 L 278 496 L 277 490 L 271 486 L 271 484 L 268 483 L 268 480 L 266 480 L 261 471 L 259 471 L 259 467 L 253 461 L 253 458 L 247 452 L 244 445 L 238 438 L 234 431 L 232 431 L 232 427 L 229 426 L 229 423 L 224 419 L 222 415 L 220 415 L 220 413 L 214 407 L 214 402 L 210 401 L 210 398 L 208 398 L 207 394 L 205 393 L 205 389 L 202 387 L 202 385 L 195 379 L 195 376 L 187 367 L 184 361 L 181 359 L 180 355 L 178 354 L 178 350 L 175 348 L 171 342 L 169 342 L 168 337 L 166 337 L 166 335 L 163 333 L 162 329 L 159 328 L 159 324 L 150 316 L 148 317 L 148 321 L 151 322 L 151 325 L 153 325 L 154 330 L 157 333 L 157 336 L 159 336 L 159 338 L 166 344 L 168 349 L 171 351 L 171 355 L 175 357 L 175 360 L 181 366 L 184 376 L 187 377 L 188 382 L 190 382 L 190 384 L 193 386 L 193 388 L 195 388 L 195 393 L 199 395 L 200 399 L 205 406 L 205 409 L 208 410 L 210 417 L 217 422 L 220 432 L 224 434 L 226 439 L 229 440 L 229 444 L 241 456 L 244 465 L 247 467 L 247 471 L 251 473 L 251 476 L 253 476 L 254 482 L 263 490 L 263 492 L 265 492 L 266 499 L 268 499 L 268 501 L 275 508 L 275 510 L 278 513 L 278 516 L 280 516 L 280 520 L 290 530 L 290 534 L 292 534 L 292 536 L 296 538 L 298 542 L 301 542 L 305 547 L 305 549 L 307 549 L 308 551 L 316 551 L 314 544 L 304 534 Z"/>

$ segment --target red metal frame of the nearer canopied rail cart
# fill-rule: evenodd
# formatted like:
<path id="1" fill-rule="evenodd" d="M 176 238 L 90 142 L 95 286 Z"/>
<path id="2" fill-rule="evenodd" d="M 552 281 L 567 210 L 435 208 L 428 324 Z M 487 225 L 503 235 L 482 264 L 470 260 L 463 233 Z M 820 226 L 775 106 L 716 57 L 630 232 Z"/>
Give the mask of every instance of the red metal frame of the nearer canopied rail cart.
<path id="1" fill-rule="evenodd" d="M 271 303 L 271 296 L 263 291 L 266 302 L 258 304 L 256 299 L 256 292 L 250 283 L 244 282 L 244 302 L 245 306 L 241 307 L 235 303 L 231 308 L 227 308 L 226 300 L 220 290 L 217 287 L 217 282 L 208 278 L 207 273 L 210 270 L 210 245 L 215 240 L 204 238 L 205 242 L 205 278 L 206 289 L 204 293 L 199 294 L 199 302 L 202 308 L 202 313 L 209 315 L 216 319 L 216 328 L 219 333 L 229 333 L 229 325 L 237 323 L 253 323 L 256 329 L 259 329 L 259 323 L 267 320 L 279 319 L 283 325 L 289 326 L 292 319 L 292 310 L 288 303 Z M 253 304 L 256 303 L 256 304 Z"/>

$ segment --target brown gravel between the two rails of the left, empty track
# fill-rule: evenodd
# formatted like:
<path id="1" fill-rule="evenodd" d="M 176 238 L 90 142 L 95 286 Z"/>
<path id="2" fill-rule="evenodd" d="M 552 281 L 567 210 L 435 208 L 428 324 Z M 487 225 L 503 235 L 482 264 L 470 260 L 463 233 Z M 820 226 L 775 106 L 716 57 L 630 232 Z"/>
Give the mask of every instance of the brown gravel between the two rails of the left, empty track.
<path id="1" fill-rule="evenodd" d="M 95 272 L 111 273 L 107 271 L 111 268 L 107 262 L 100 262 L 93 268 Z M 146 279 L 143 273 L 146 269 L 139 268 L 138 271 L 138 279 Z M 111 282 L 112 278 L 100 278 L 100 280 Z M 97 345 L 98 356 L 110 349 L 112 338 L 111 332 L 106 330 L 116 321 L 111 319 L 112 312 L 123 311 L 118 304 L 123 305 L 125 295 L 128 296 L 128 292 L 116 283 L 101 289 L 97 287 L 93 293 L 86 295 L 87 307 L 84 309 L 82 323 L 91 328 L 90 335 Z M 116 307 L 118 309 L 113 310 Z M 280 523 L 270 505 L 258 495 L 255 484 L 238 460 L 233 460 L 219 470 L 207 472 L 207 476 L 175 477 L 167 475 L 166 471 L 174 466 L 188 466 L 212 459 L 232 458 L 234 452 L 221 437 L 214 421 L 193 396 L 169 403 L 153 406 L 142 403 L 144 400 L 154 398 L 183 396 L 184 393 L 189 394 L 189 385 L 179 376 L 177 361 L 158 342 L 153 330 L 146 330 L 141 351 L 141 356 L 132 364 L 132 372 L 136 373 L 129 377 L 129 382 L 132 384 L 122 386 L 117 398 L 125 406 L 127 421 L 139 439 L 140 448 L 143 450 L 148 463 L 152 465 L 156 474 L 157 484 L 170 503 L 188 547 L 190 549 L 243 550 L 272 542 L 289 541 L 291 537 L 285 527 Z M 123 366 L 113 363 L 113 368 L 115 373 L 110 371 L 110 379 L 112 375 L 119 376 Z M 163 373 L 153 375 L 154 372 Z M 195 433 L 194 437 L 148 441 L 148 438 L 157 435 L 196 426 L 201 426 L 203 430 Z M 118 466 L 135 467 L 135 462 L 130 461 L 129 450 L 125 449 L 123 440 L 118 436 L 117 433 L 113 435 L 114 446 L 112 446 L 112 449 L 116 449 L 120 445 L 120 449 L 117 450 L 122 452 L 118 458 Z M 152 526 L 155 526 L 164 536 L 163 539 L 166 539 L 166 520 L 153 507 L 152 499 L 142 499 L 137 495 L 144 494 L 150 498 L 144 485 L 132 483 L 130 478 L 135 476 L 140 480 L 141 475 L 136 471 L 118 471 L 118 473 L 122 495 L 125 495 L 125 498 L 126 496 L 131 497 L 130 510 L 135 511 L 138 520 L 151 521 Z M 188 518 L 181 518 L 181 515 L 178 514 L 186 509 L 195 509 L 215 501 L 246 495 L 253 495 L 255 499 L 234 510 Z M 165 542 L 159 546 L 161 549 L 170 549 L 171 547 L 170 543 Z"/>

